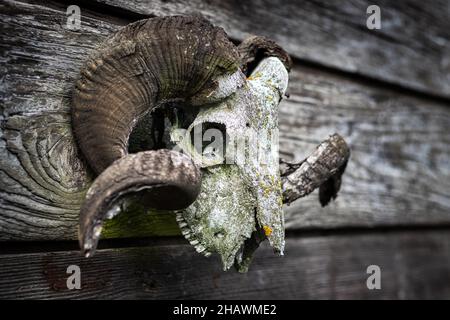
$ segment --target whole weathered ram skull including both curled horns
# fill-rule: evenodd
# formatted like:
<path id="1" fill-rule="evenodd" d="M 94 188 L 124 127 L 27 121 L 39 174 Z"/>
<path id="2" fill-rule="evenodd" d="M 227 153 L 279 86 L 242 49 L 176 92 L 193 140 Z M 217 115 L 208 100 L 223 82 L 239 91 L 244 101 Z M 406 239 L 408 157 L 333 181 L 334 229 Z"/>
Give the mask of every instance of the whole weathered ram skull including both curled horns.
<path id="1" fill-rule="evenodd" d="M 282 161 L 280 175 L 277 107 L 290 65 L 273 41 L 236 48 L 199 17 L 138 21 L 105 41 L 73 96 L 74 134 L 98 174 L 80 211 L 84 254 L 95 251 L 103 220 L 136 199 L 176 212 L 183 235 L 219 253 L 224 269 L 246 271 L 265 239 L 283 254 L 283 201 L 320 187 L 328 203 L 349 157 L 334 135 L 301 163 Z M 152 139 L 133 154 L 136 132 Z"/>

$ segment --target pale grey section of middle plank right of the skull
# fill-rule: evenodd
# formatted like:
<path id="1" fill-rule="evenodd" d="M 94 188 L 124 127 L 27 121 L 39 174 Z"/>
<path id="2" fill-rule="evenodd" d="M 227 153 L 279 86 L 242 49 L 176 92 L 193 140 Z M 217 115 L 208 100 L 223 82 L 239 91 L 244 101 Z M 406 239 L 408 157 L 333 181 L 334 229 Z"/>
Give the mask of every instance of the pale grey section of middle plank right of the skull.
<path id="1" fill-rule="evenodd" d="M 302 160 L 338 132 L 351 156 L 337 201 L 286 209 L 287 228 L 448 223 L 448 105 L 296 66 L 280 106 L 281 156 Z"/>

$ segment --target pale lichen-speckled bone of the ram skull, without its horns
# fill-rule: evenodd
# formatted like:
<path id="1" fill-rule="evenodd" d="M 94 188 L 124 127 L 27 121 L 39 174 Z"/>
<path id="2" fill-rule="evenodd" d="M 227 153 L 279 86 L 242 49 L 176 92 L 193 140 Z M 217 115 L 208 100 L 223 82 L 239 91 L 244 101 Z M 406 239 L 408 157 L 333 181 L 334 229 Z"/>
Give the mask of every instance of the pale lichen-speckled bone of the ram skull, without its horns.
<path id="1" fill-rule="evenodd" d="M 203 177 L 197 200 L 177 214 L 177 221 L 198 252 L 217 252 L 224 269 L 236 262 L 245 270 L 251 257 L 243 257 L 244 245 L 253 233 L 262 232 L 276 252 L 284 250 L 278 104 L 288 72 L 278 58 L 269 57 L 249 78 L 240 70 L 237 75 L 234 95 L 201 108 L 179 142 Z M 198 137 L 197 145 L 214 140 L 199 153 L 192 137 Z"/>

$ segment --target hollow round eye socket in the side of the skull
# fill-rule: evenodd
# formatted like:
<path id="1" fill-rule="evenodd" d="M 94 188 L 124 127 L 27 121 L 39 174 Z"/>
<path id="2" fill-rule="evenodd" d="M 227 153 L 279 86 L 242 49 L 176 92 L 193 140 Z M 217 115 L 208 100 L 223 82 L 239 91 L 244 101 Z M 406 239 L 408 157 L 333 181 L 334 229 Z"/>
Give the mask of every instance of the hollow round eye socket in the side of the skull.
<path id="1" fill-rule="evenodd" d="M 202 122 L 190 132 L 194 150 L 209 160 L 223 160 L 226 157 L 226 145 L 229 136 L 226 126 L 218 122 Z"/>

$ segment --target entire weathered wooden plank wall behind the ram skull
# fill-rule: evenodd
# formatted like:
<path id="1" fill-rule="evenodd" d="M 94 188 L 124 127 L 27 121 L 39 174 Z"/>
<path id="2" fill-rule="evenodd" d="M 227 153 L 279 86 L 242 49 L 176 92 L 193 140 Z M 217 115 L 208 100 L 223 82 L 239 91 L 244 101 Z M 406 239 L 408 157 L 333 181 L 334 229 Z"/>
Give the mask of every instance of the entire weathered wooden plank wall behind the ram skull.
<path id="1" fill-rule="evenodd" d="M 379 1 L 381 30 L 365 27 L 363 0 L 85 1 L 77 31 L 68 4 L 0 5 L 0 297 L 450 298 L 448 2 Z M 247 275 L 198 256 L 160 213 L 119 215 L 105 237 L 149 240 L 111 240 L 82 260 L 73 240 L 90 175 L 69 118 L 79 67 L 121 25 L 188 13 L 289 51 L 282 156 L 300 160 L 340 133 L 352 149 L 342 191 L 326 208 L 317 194 L 287 207 L 286 256 L 262 250 Z M 86 272 L 77 292 L 61 286 L 72 263 Z M 370 264 L 383 270 L 379 292 L 366 288 Z"/>

